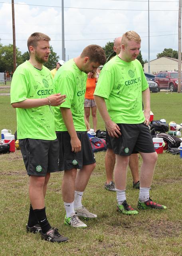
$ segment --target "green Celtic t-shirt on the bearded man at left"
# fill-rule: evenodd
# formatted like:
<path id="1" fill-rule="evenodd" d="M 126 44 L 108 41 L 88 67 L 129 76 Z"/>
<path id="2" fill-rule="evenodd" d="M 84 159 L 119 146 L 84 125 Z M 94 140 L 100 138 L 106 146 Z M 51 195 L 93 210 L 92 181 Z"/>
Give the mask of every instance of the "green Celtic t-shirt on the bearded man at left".
<path id="1" fill-rule="evenodd" d="M 51 72 L 45 66 L 38 70 L 29 61 L 18 66 L 11 83 L 11 104 L 28 98 L 45 98 L 51 94 L 55 94 L 55 90 Z M 53 108 L 51 110 L 48 105 L 16 108 L 18 139 L 55 140 Z"/>

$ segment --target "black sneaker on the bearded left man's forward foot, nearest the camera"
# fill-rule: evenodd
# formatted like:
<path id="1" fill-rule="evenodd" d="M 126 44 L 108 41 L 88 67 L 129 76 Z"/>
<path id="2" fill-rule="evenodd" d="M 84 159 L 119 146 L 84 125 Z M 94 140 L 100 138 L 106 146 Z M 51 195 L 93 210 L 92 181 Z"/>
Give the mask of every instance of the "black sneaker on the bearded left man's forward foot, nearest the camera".
<path id="1" fill-rule="evenodd" d="M 61 236 L 57 228 L 50 228 L 45 234 L 41 232 L 41 238 L 49 242 L 67 242 L 69 238 Z"/>

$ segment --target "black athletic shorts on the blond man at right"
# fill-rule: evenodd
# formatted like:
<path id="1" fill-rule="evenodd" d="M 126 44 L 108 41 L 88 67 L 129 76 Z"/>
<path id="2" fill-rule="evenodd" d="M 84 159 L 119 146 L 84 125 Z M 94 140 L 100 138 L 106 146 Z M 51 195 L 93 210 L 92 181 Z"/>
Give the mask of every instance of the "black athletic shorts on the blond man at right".
<path id="1" fill-rule="evenodd" d="M 130 156 L 138 152 L 155 152 L 152 136 L 146 124 L 117 124 L 121 129 L 119 138 L 110 137 L 106 131 L 107 147 L 120 156 Z"/>

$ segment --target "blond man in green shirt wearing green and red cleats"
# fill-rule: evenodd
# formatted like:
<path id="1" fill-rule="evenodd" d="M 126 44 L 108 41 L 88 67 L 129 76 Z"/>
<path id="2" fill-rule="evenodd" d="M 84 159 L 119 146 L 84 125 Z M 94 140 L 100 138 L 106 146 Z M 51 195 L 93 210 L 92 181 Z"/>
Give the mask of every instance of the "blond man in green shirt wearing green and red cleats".
<path id="1" fill-rule="evenodd" d="M 107 146 L 116 155 L 114 176 L 117 210 L 127 215 L 138 214 L 127 204 L 125 195 L 129 156 L 135 152 L 139 152 L 143 160 L 138 208 L 166 209 L 166 206 L 149 198 L 157 153 L 148 128 L 150 91 L 142 66 L 136 59 L 140 43 L 140 36 L 136 32 L 123 34 L 121 52 L 105 64 L 94 92 L 97 108 L 107 129 Z"/>

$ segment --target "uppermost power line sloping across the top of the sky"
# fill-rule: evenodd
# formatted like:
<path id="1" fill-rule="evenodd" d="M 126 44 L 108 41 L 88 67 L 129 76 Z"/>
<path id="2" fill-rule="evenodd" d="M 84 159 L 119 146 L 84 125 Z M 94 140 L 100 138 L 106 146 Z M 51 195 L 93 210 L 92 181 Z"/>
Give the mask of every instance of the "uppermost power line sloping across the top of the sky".
<path id="1" fill-rule="evenodd" d="M 142 1 L 144 2 L 144 1 Z M 3 4 L 11 4 L 8 2 L 0 2 Z M 20 3 L 16 3 L 18 5 L 29 5 L 29 6 L 42 6 L 42 7 L 55 7 L 55 8 L 61 8 L 61 6 L 50 6 L 50 5 L 38 5 L 38 4 L 20 4 Z M 66 7 L 64 6 L 64 8 L 68 8 L 68 9 L 82 9 L 82 10 L 110 10 L 110 11 L 148 11 L 148 10 L 131 10 L 131 9 L 108 9 L 108 8 L 86 8 L 86 7 Z M 155 12 L 155 11 L 172 11 L 172 12 L 176 12 L 178 10 L 150 10 L 150 12 Z"/>

